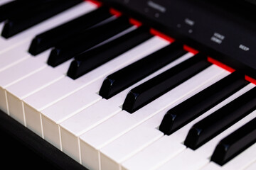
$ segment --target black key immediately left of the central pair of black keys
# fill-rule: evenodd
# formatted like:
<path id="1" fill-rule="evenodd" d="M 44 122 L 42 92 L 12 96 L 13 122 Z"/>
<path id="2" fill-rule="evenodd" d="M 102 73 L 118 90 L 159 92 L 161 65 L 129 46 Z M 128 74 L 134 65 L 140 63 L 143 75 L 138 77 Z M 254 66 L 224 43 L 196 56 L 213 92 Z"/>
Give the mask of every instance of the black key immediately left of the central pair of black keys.
<path id="1" fill-rule="evenodd" d="M 115 40 L 107 42 L 105 45 L 83 52 L 76 56 L 75 60 L 71 62 L 70 68 L 68 69 L 68 77 L 77 79 L 83 74 L 90 72 L 92 69 L 112 60 L 114 57 L 121 55 L 151 37 L 152 35 L 149 33 L 149 29 L 141 27 Z"/>

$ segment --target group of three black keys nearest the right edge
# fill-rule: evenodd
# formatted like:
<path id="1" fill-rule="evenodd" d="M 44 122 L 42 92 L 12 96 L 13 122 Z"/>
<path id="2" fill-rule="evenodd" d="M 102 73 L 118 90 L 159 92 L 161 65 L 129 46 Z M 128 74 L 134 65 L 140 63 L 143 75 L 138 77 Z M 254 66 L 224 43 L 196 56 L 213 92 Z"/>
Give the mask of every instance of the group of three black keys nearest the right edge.
<path id="1" fill-rule="evenodd" d="M 166 135 L 209 111 L 249 82 L 238 72 L 221 79 L 198 94 L 171 108 L 164 116 L 159 130 Z M 199 121 L 189 130 L 184 145 L 198 149 L 213 137 L 234 125 L 256 109 L 256 87 Z M 211 159 L 220 165 L 240 154 L 256 142 L 256 118 L 221 140 Z"/>

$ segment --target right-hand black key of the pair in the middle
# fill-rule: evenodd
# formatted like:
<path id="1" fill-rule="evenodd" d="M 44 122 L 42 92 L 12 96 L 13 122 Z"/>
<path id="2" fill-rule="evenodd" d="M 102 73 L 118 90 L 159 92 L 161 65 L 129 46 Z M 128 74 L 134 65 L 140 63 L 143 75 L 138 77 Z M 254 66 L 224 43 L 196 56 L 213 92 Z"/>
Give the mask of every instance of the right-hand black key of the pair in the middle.
<path id="1" fill-rule="evenodd" d="M 210 65 L 206 56 L 195 55 L 129 91 L 122 108 L 134 113 Z"/>

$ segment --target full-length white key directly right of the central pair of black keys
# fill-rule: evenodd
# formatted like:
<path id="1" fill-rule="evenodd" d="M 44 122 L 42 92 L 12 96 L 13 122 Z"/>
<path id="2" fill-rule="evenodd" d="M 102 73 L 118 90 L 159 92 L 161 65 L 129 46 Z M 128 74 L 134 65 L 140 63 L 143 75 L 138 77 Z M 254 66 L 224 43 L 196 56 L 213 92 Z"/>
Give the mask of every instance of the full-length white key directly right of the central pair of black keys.
<path id="1" fill-rule="evenodd" d="M 132 128 L 136 127 L 140 123 L 143 123 L 156 113 L 159 113 L 160 111 L 169 107 L 172 103 L 179 103 L 199 91 L 199 89 L 203 87 L 205 88 L 210 84 L 210 80 L 218 77 L 218 75 L 222 72 L 224 72 L 223 69 L 211 66 L 200 74 L 197 74 L 192 79 L 189 79 L 185 83 L 164 94 L 160 98 L 157 98 L 155 101 L 152 101 L 149 105 L 144 106 L 144 108 L 141 108 L 136 113 L 129 114 L 126 111 L 122 111 L 92 130 L 85 132 L 85 134 L 81 135 L 80 137 L 80 147 L 84 147 L 84 150 L 87 151 L 82 153 L 82 155 L 85 157 L 82 158 L 82 164 L 85 166 L 93 166 L 93 169 L 99 169 L 99 149 L 114 141 L 117 139 L 117 137 L 124 135 L 124 133 L 128 132 L 129 130 L 132 130 Z M 188 86 L 190 89 L 186 88 Z M 62 126 L 61 128 L 61 130 L 63 130 Z M 68 134 L 65 137 L 65 140 L 68 140 L 66 141 L 67 143 L 70 141 L 75 142 L 75 138 L 78 138 L 78 133 L 72 134 L 67 130 L 63 130 L 63 132 L 64 131 L 65 135 Z M 62 142 L 64 142 L 64 140 Z M 87 157 L 91 157 L 91 159 L 95 159 L 97 162 L 87 162 Z"/>

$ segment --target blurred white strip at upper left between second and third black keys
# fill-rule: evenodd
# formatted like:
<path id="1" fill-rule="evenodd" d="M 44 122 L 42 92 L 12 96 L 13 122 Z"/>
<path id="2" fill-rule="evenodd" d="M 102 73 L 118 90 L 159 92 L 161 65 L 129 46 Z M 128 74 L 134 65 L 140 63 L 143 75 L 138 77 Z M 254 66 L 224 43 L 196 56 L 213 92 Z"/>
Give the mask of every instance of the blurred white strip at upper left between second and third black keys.
<path id="1" fill-rule="evenodd" d="M 0 54 L 21 44 L 26 44 L 27 47 L 29 47 L 31 40 L 38 33 L 42 33 L 43 31 L 55 26 L 59 26 L 61 23 L 77 18 L 78 16 L 92 11 L 95 8 L 97 8 L 97 6 L 92 4 L 90 1 L 82 2 L 66 11 L 63 11 L 62 13 L 58 13 L 56 16 L 53 16 L 42 23 L 38 23 L 36 26 L 24 30 L 22 33 L 12 36 L 11 38 L 5 39 L 0 37 Z M 0 28 L 2 28 L 3 25 L 4 23 L 1 23 Z"/>

